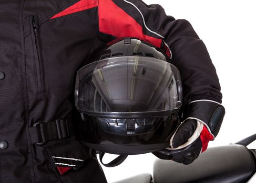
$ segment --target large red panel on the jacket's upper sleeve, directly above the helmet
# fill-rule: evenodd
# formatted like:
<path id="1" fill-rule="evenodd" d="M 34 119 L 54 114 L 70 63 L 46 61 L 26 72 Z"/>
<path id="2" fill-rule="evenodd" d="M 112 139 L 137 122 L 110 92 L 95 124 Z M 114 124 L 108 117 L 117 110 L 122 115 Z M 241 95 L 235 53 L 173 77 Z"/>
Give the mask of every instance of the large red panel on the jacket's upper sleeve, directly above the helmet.
<path id="1" fill-rule="evenodd" d="M 99 2 L 99 30 L 117 38 L 135 37 L 160 48 L 162 39 L 147 36 L 142 26 L 111 0 Z"/>

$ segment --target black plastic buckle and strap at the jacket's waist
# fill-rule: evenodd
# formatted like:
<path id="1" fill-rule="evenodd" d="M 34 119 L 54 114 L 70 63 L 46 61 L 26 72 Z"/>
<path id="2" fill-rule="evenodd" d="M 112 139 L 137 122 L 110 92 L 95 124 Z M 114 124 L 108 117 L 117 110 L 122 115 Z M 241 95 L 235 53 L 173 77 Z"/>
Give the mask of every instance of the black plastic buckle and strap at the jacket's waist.
<path id="1" fill-rule="evenodd" d="M 74 134 L 71 119 L 61 118 L 47 123 L 37 122 L 29 127 L 33 144 L 43 145 L 50 141 L 67 139 Z"/>

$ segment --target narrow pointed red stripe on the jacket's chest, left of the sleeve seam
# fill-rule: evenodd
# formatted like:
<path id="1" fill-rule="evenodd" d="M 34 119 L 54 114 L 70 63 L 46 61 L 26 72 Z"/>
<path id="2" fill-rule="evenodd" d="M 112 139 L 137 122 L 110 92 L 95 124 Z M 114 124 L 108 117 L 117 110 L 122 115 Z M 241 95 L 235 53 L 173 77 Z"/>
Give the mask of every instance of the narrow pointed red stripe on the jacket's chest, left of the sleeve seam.
<path id="1" fill-rule="evenodd" d="M 69 14 L 74 14 L 76 12 L 81 12 L 86 9 L 94 8 L 98 6 L 98 0 L 80 0 L 74 5 L 64 9 L 62 12 L 54 15 L 52 18 L 62 17 Z"/>

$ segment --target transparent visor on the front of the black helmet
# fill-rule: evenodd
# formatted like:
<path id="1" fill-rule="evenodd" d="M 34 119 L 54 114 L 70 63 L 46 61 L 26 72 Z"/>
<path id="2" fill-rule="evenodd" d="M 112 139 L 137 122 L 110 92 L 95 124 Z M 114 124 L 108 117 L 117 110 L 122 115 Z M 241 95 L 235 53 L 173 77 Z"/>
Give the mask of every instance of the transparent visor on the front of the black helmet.
<path id="1" fill-rule="evenodd" d="M 77 72 L 75 104 L 101 118 L 159 116 L 181 106 L 179 71 L 155 58 L 121 56 L 90 63 Z"/>

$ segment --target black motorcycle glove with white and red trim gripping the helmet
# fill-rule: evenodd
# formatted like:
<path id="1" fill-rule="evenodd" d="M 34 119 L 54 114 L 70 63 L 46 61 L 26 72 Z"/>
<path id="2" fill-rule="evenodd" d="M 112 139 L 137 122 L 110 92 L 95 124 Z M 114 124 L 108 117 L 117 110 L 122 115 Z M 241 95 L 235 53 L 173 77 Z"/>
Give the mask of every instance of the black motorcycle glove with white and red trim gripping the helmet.
<path id="1" fill-rule="evenodd" d="M 190 164 L 217 136 L 225 113 L 222 105 L 211 100 L 197 100 L 190 102 L 185 111 L 186 119 L 172 135 L 170 147 L 154 152 L 157 157 Z"/>

